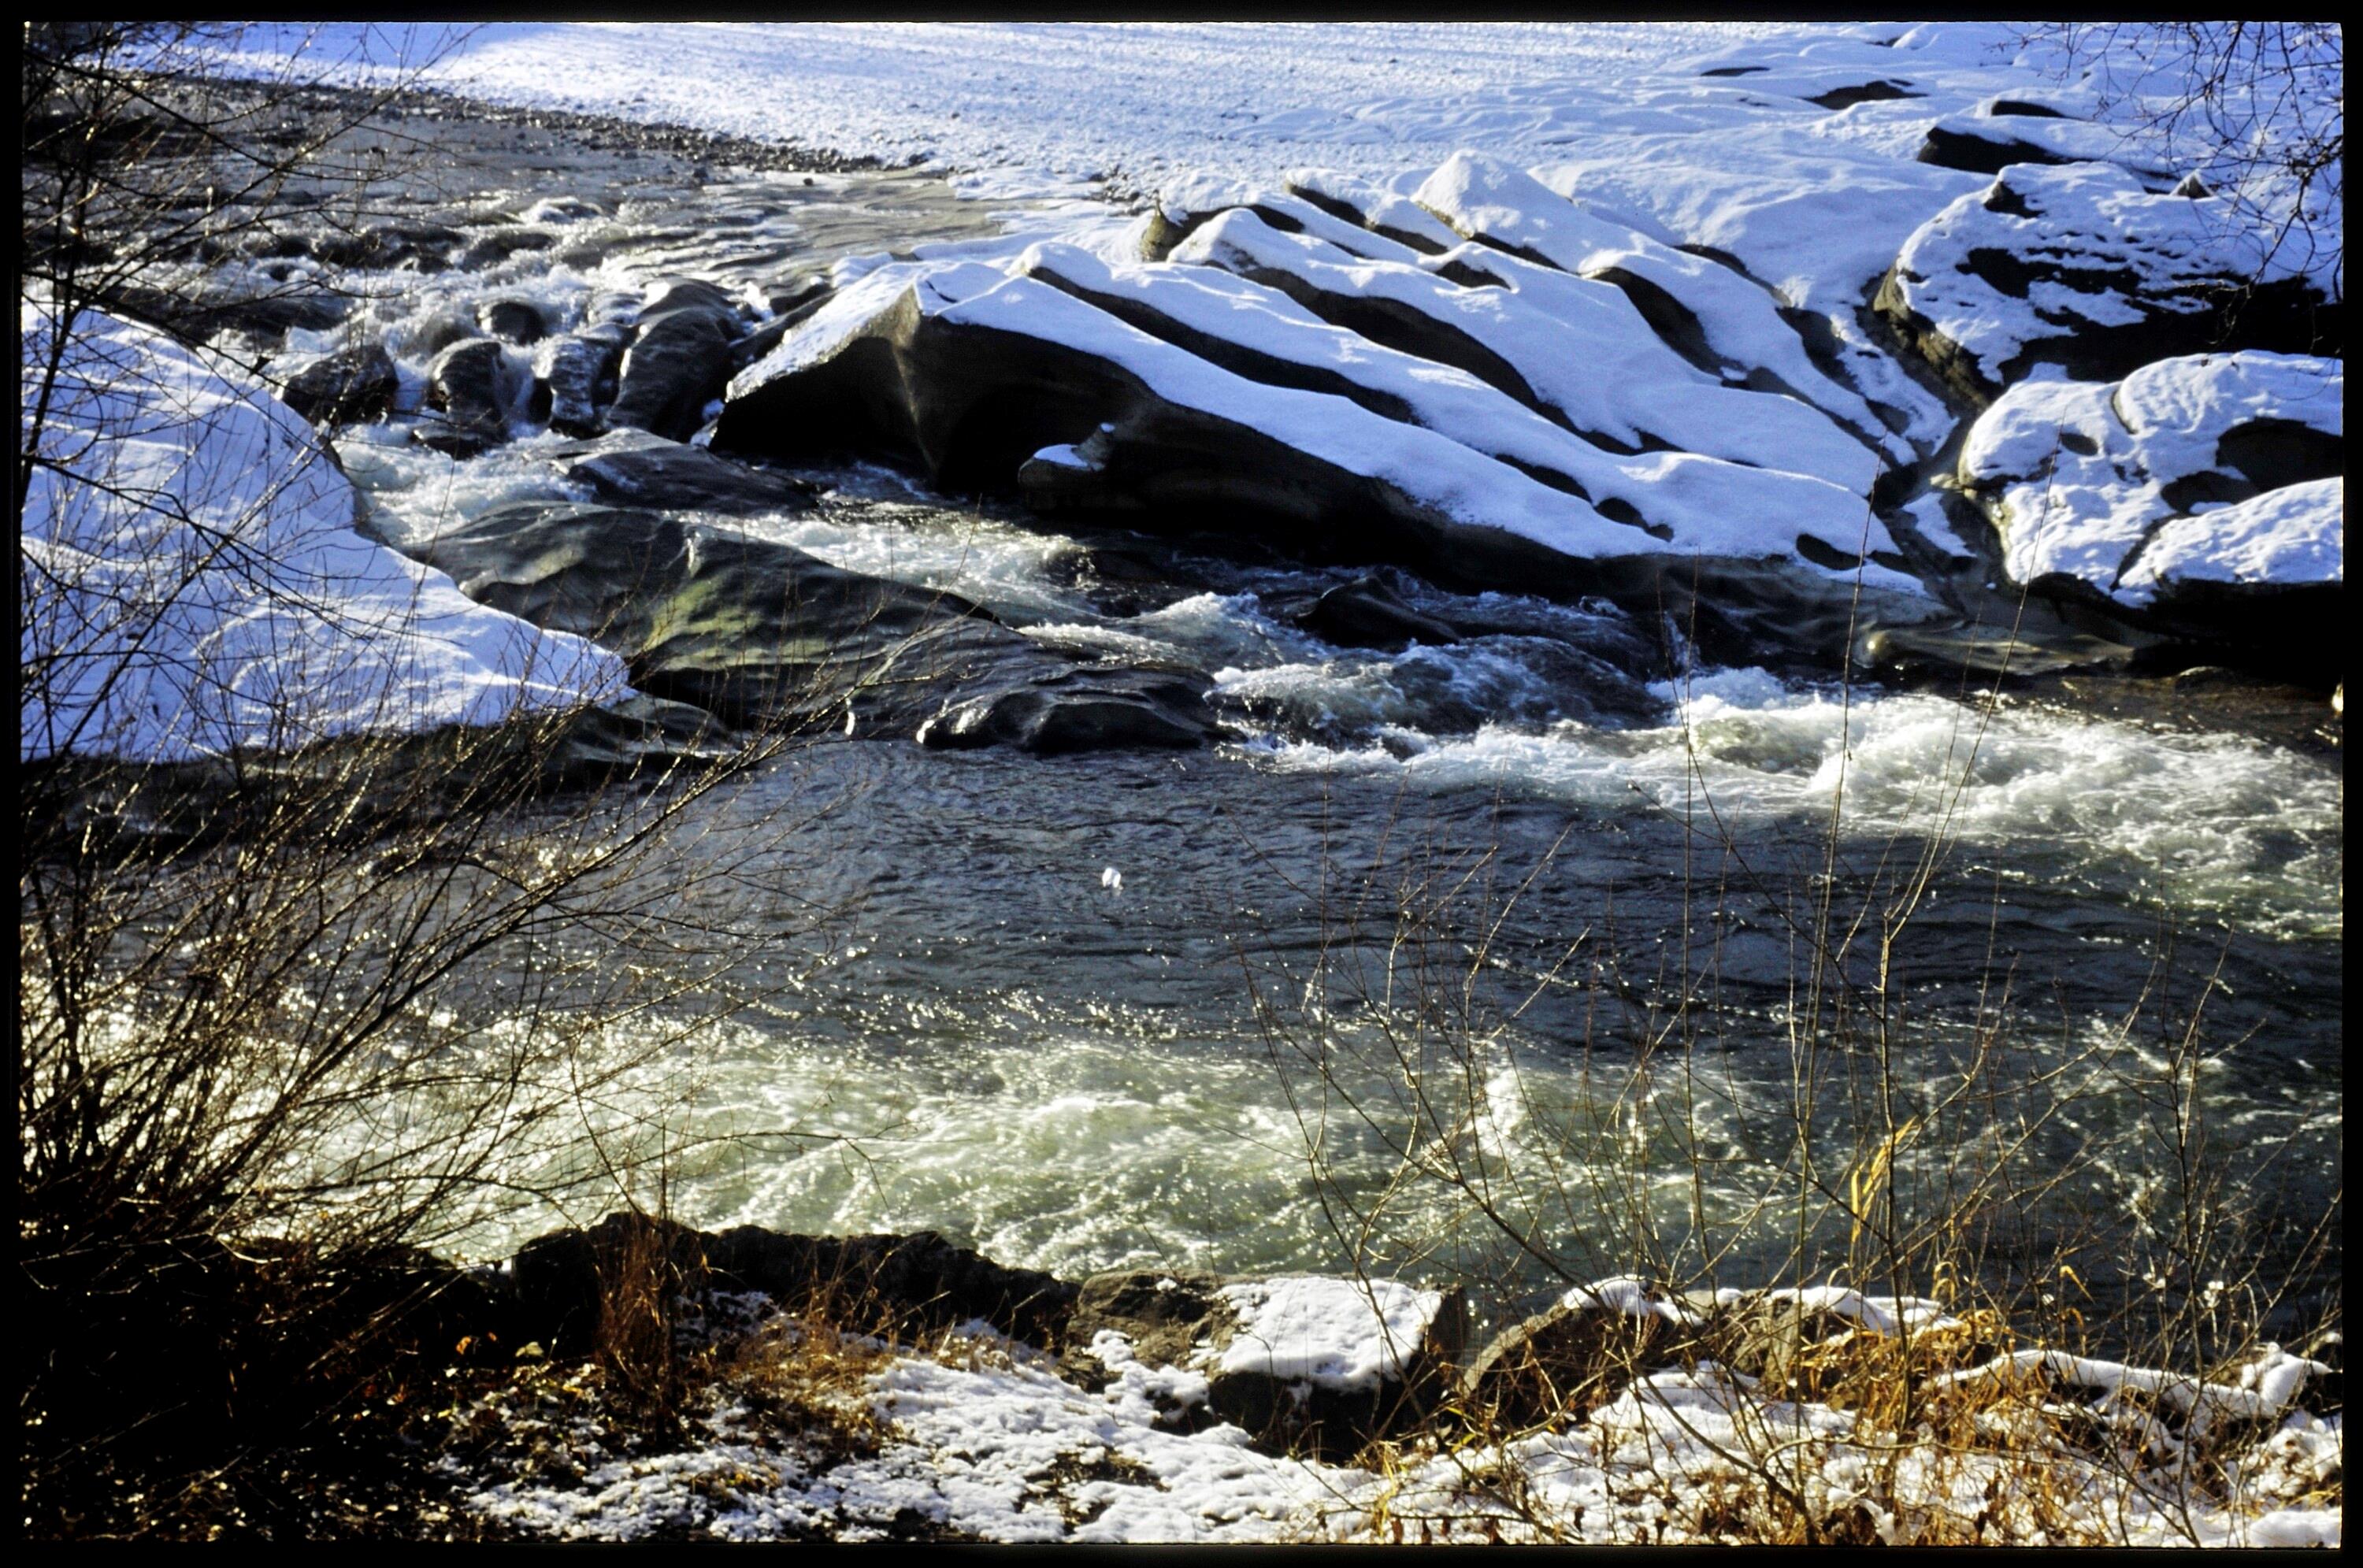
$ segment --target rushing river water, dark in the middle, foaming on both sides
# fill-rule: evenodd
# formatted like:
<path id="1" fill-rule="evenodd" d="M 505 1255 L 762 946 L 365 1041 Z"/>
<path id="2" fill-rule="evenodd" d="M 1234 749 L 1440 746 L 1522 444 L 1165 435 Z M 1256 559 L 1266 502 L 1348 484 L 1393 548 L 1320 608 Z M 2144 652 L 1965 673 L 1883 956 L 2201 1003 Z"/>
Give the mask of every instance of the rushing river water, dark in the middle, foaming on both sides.
<path id="1" fill-rule="evenodd" d="M 884 182 L 777 184 L 768 208 L 673 191 L 678 239 L 598 276 L 522 257 L 378 316 L 399 338 L 494 290 L 565 314 L 614 267 L 733 276 L 976 227 L 896 210 Z M 567 496 L 546 446 L 454 463 L 399 418 L 340 437 L 395 538 Z M 775 834 L 770 999 L 669 1058 L 690 1089 L 666 1115 L 794 1136 L 699 1145 L 671 1190 L 699 1223 L 931 1226 L 1063 1273 L 1359 1252 L 1482 1273 L 1517 1252 L 1484 1197 L 1531 1254 L 1619 1263 L 1649 1216 L 1690 1261 L 1730 1242 L 1713 1261 L 1742 1280 L 1794 1240 L 1756 1204 L 1794 1188 L 1801 1145 L 1841 1183 L 1921 1117 L 1890 1145 L 1905 1207 L 2009 1171 L 1980 1209 L 1994 1256 L 2087 1223 L 2105 1252 L 2174 1185 L 2172 1084 L 2209 1117 L 2209 1169 L 2245 1183 L 2257 1261 L 2337 1188 L 2335 765 L 2025 697 L 1701 668 L 1607 602 L 1415 579 L 1413 607 L 1482 631 L 1345 649 L 1295 614 L 1359 569 L 808 477 L 813 512 L 716 522 L 957 590 L 1066 652 L 1212 671 L 1226 744 L 1042 760 L 855 737 L 714 805 L 716 843 Z M 2025 1185 L 2063 1169 L 2068 1190 Z M 1512 1275 L 1548 1280 L 1531 1256 Z"/>

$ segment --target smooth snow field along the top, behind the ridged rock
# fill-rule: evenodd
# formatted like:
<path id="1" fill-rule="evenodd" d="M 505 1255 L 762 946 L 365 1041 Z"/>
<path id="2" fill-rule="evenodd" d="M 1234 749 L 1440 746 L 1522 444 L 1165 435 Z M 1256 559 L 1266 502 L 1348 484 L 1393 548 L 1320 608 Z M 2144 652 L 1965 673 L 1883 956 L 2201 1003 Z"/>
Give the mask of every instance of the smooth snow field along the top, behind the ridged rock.
<path id="1" fill-rule="evenodd" d="M 2098 111 L 2044 76 L 2042 45 L 1961 21 L 258 24 L 229 54 L 364 78 L 411 64 L 494 102 L 924 161 L 992 201 L 1146 194 L 1196 170 L 1278 187 L 1304 168 L 1408 196 L 1406 170 L 1418 184 L 1475 146 L 1652 239 L 1737 255 L 1822 312 L 1850 309 L 1905 236 L 1985 184 L 1914 161 L 1933 123 L 2046 90 Z M 1812 102 L 1869 83 L 1909 97 Z M 2136 92 L 2117 118 L 2141 106 Z"/>

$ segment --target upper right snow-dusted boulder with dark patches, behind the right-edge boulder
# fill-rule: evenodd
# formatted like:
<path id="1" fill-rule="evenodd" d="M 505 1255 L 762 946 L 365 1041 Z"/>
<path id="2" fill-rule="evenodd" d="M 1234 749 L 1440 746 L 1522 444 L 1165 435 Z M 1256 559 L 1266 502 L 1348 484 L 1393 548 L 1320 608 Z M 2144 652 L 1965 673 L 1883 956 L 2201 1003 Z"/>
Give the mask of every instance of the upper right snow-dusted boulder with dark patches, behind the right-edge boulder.
<path id="1" fill-rule="evenodd" d="M 2115 163 L 2013 163 L 1928 220 L 1876 309 L 1966 401 L 2037 364 L 2110 380 L 2200 349 L 2339 352 L 2342 305 L 2224 196 L 2150 191 Z"/>

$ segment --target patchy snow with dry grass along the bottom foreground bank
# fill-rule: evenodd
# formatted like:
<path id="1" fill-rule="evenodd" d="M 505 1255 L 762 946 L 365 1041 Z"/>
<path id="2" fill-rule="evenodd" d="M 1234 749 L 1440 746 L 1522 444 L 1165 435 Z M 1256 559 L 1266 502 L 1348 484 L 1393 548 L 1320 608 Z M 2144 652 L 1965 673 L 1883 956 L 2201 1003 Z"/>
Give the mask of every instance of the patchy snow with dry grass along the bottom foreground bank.
<path id="1" fill-rule="evenodd" d="M 1267 1285 L 1285 1285 L 1271 1280 Z M 1373 1304 L 1345 1280 L 1345 1294 L 1314 1318 L 1342 1313 L 1349 1296 L 1368 1322 Z M 1621 1299 L 1630 1280 L 1588 1292 Z M 1853 1292 L 1834 1292 L 1850 1299 Z M 1276 1306 L 1278 1294 L 1264 1299 Z M 1385 1306 L 1385 1304 L 1382 1304 Z M 1337 1329 L 1345 1329 L 1340 1315 Z M 1874 1327 L 1867 1322 L 1867 1327 Z M 1874 1327 L 1874 1332 L 1879 1332 Z M 2174 1379 L 2115 1363 L 2065 1358 L 2053 1370 L 2101 1389 L 2094 1412 L 2134 1443 L 2117 1462 L 2094 1462 L 2039 1438 L 2004 1457 L 1895 1443 L 1850 1412 L 1758 1393 L 1753 1379 L 1701 1363 L 1628 1384 L 1586 1417 L 1508 1443 L 1458 1452 L 1406 1450 L 1404 1466 L 1378 1476 L 1345 1464 L 1259 1452 L 1231 1424 L 1172 1431 L 1165 1417 L 1205 1403 L 1205 1377 L 1151 1367 L 1115 1332 L 1092 1353 L 1115 1374 L 1099 1393 L 1061 1379 L 1049 1358 L 981 1322 L 933 1353 L 888 1348 L 848 1400 L 867 1403 L 888 1426 L 874 1452 L 829 1452 L 728 1391 L 690 1419 L 681 1452 L 610 1457 L 612 1433 L 595 1403 L 562 1407 L 560 1422 L 515 1410 L 494 1396 L 525 1450 L 551 1443 L 581 1464 L 444 1459 L 468 1490 L 468 1507 L 532 1535 L 617 1540 L 711 1535 L 780 1540 L 822 1535 L 879 1540 L 922 1521 L 997 1542 L 1271 1542 L 1271 1540 L 1581 1540 L 1701 1542 L 1727 1523 L 1730 1500 L 1765 1462 L 1820 1511 L 1864 1507 L 1881 1535 L 1931 1516 L 2013 1544 L 2339 1544 L 2342 1521 L 2318 1507 L 2344 1462 L 2339 1417 L 2290 1410 L 2316 1363 L 2266 1346 L 2238 1386 L 2209 1386 L 2202 1407 L 2273 1419 L 2264 1440 L 2233 1450 L 2212 1481 L 2188 1471 L 2183 1445 L 2155 1419 L 2115 1403 L 2115 1389 L 2146 1386 L 2172 1403 Z M 2035 1353 L 2044 1355 L 2044 1353 Z M 1973 1377 L 2023 1372 L 2006 1358 Z M 579 1391 L 574 1391 L 579 1393 Z M 2148 1426 L 2141 1422 L 2148 1419 Z M 2183 1419 L 2198 1438 L 2205 1419 Z M 2143 1448 L 2143 1438 L 2165 1438 Z M 1883 1483 L 1881 1471 L 1893 1466 Z M 2037 1474 L 2042 1471 L 2042 1474 Z M 1510 1476 L 1510 1488 L 1486 1476 Z M 2049 1518 L 2018 1502 L 2030 1485 L 2065 1500 Z M 1517 1497 L 1522 1507 L 1508 1502 Z M 1919 1518 L 1905 1521 L 1909 1509 Z M 2079 1535 L 2046 1533 L 2070 1521 Z M 1411 1535 L 1401 1525 L 1411 1525 Z"/>

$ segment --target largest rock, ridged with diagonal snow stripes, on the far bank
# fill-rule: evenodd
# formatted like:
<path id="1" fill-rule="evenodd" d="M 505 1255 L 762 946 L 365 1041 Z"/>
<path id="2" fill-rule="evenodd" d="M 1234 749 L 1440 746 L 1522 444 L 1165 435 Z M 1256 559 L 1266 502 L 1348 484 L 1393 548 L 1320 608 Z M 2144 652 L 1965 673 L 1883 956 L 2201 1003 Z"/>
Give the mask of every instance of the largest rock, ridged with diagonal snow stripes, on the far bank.
<path id="1" fill-rule="evenodd" d="M 1526 179 L 1470 156 L 1439 177 L 1479 168 Z M 1704 371 L 1718 349 L 1685 357 L 1614 283 L 1475 243 L 1420 255 L 1293 196 L 1193 187 L 1130 236 L 1170 260 L 1044 243 L 844 267 L 837 298 L 730 383 L 711 439 L 912 460 L 940 489 L 1035 510 L 1212 517 L 1366 557 L 1375 543 L 1493 583 L 1571 562 L 1640 581 L 1708 557 L 1808 590 L 1860 571 L 1916 593 L 1867 503 L 1893 442 L 1867 404 L 1753 283 L 1619 239 L 1664 262 L 1690 290 L 1675 312 L 1704 312 L 1718 342 L 1784 340 L 1796 364 L 1753 383 L 1720 359 Z M 1727 286 L 1697 286 L 1699 267 Z M 1732 288 L 1758 295 L 1760 321 Z"/>

